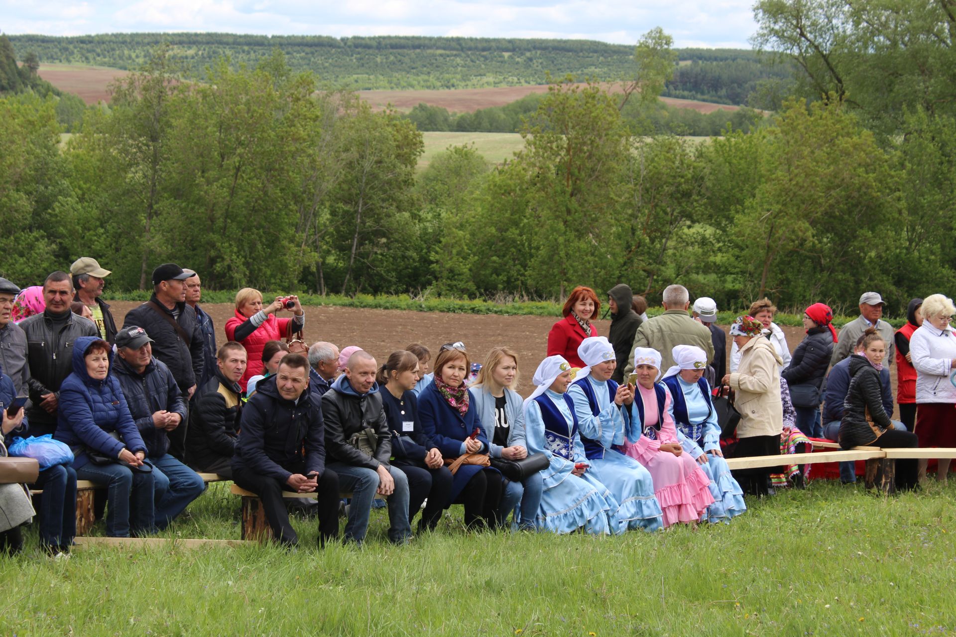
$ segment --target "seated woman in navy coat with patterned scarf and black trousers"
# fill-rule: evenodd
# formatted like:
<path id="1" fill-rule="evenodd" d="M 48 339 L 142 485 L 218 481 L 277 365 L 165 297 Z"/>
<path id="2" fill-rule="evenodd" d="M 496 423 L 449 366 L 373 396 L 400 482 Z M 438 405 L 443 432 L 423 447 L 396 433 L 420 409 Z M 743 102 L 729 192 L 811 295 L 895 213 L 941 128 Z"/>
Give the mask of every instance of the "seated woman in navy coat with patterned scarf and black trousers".
<path id="1" fill-rule="evenodd" d="M 445 460 L 466 454 L 489 453 L 489 439 L 472 408 L 474 395 L 465 386 L 470 361 L 459 343 L 442 346 L 435 359 L 434 381 L 425 386 L 418 398 L 422 428 Z M 501 520 L 501 474 L 490 467 L 462 464 L 455 472 L 451 501 L 465 505 L 465 523 L 469 529 L 494 528 Z"/>

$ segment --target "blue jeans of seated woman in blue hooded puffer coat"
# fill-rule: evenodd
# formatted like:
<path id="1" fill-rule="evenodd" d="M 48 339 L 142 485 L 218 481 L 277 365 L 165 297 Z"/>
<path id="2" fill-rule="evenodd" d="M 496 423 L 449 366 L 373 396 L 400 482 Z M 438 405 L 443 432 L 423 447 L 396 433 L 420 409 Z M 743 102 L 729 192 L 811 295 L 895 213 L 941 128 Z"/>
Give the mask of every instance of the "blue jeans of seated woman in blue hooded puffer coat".
<path id="1" fill-rule="evenodd" d="M 106 535 L 128 538 L 130 532 L 154 529 L 153 474 L 133 471 L 118 462 L 89 462 L 76 470 L 76 478 L 106 487 Z"/>

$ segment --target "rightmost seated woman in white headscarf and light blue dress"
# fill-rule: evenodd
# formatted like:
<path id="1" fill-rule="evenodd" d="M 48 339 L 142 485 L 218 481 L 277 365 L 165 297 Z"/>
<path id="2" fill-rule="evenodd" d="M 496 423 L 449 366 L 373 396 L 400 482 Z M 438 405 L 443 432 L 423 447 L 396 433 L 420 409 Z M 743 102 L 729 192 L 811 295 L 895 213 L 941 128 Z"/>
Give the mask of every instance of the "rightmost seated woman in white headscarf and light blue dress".
<path id="1" fill-rule="evenodd" d="M 720 425 L 710 399 L 710 385 L 704 378 L 707 355 L 691 345 L 671 350 L 675 365 L 663 374 L 663 384 L 672 398 L 667 412 L 684 435 L 684 451 L 691 455 L 710 478 L 714 503 L 707 507 L 706 520 L 728 521 L 747 510 L 744 492 L 730 475 L 720 449 Z"/>

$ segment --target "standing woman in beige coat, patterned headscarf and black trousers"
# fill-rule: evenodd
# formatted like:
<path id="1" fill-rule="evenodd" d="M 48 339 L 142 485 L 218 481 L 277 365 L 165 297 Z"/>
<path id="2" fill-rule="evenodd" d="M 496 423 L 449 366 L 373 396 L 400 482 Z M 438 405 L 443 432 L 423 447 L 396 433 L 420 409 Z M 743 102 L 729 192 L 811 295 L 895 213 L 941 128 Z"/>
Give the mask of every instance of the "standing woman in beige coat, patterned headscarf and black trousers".
<path id="1" fill-rule="evenodd" d="M 780 356 L 764 338 L 763 326 L 750 316 L 738 316 L 730 336 L 740 350 L 740 367 L 724 376 L 723 385 L 737 393 L 736 407 L 741 420 L 740 438 L 731 457 L 777 456 L 783 431 L 783 402 L 780 399 Z M 766 496 L 771 474 L 779 467 L 732 471 L 744 493 Z"/>

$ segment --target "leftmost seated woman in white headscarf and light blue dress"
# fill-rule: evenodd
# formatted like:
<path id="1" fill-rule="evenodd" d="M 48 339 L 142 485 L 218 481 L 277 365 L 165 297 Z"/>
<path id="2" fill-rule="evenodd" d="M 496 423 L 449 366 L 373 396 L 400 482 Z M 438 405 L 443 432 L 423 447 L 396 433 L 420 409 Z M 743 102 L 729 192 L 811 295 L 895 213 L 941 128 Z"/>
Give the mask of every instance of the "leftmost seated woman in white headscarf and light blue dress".
<path id="1" fill-rule="evenodd" d="M 587 460 L 577 434 L 574 406 L 567 396 L 572 380 L 571 365 L 563 356 L 548 356 L 534 372 L 535 390 L 525 399 L 525 441 L 528 454 L 546 454 L 551 464 L 541 472 L 544 491 L 538 508 L 538 528 L 554 533 L 571 533 L 583 528 L 588 533 L 607 535 L 619 531 L 610 514 L 617 502 L 602 496 L 603 485 L 586 475 Z"/>

